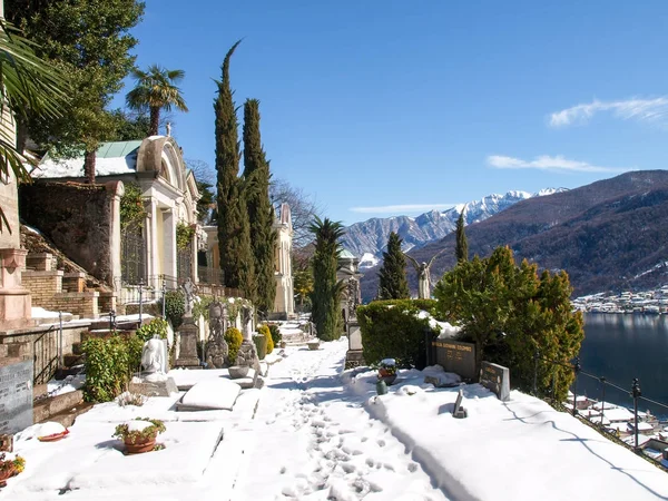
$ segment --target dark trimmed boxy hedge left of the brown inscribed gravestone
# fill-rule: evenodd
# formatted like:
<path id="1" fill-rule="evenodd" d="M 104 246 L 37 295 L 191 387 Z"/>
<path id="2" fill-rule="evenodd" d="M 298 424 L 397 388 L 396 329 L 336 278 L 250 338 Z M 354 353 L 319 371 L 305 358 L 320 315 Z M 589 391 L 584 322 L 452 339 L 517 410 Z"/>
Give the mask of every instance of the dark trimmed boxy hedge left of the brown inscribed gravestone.
<path id="1" fill-rule="evenodd" d="M 429 325 L 429 318 L 418 318 L 418 314 L 428 310 L 424 306 L 435 307 L 435 303 L 432 299 L 391 299 L 358 306 L 366 363 L 375 365 L 383 358 L 395 358 L 399 366 L 424 369 L 425 335 L 429 333 L 432 338 L 439 332 Z"/>

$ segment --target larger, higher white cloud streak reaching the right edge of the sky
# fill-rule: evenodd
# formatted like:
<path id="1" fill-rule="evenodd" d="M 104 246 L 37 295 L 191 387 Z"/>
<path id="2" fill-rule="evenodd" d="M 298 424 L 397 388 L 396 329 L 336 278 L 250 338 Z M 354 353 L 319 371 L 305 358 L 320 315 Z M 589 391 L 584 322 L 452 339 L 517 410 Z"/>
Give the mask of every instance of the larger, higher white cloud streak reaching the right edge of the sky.
<path id="1" fill-rule="evenodd" d="M 551 114 L 550 126 L 568 127 L 573 124 L 583 124 L 600 111 L 611 111 L 616 117 L 623 120 L 665 122 L 668 121 L 668 97 L 655 99 L 632 98 L 622 101 L 599 101 L 595 99 L 589 104 L 577 105 Z"/>

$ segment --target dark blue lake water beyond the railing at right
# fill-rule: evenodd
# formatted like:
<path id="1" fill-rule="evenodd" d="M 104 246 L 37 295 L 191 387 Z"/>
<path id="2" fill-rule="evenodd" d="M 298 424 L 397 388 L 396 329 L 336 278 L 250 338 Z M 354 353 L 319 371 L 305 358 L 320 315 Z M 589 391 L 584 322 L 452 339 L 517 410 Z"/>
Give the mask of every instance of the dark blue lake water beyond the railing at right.
<path id="1" fill-rule="evenodd" d="M 668 405 L 668 315 L 588 313 L 580 348 L 582 371 L 627 389 L 606 385 L 606 401 L 632 407 L 629 393 L 638 377 L 642 396 Z M 601 399 L 601 383 L 582 374 L 578 394 Z M 638 410 L 668 416 L 668 409 L 644 400 Z"/>

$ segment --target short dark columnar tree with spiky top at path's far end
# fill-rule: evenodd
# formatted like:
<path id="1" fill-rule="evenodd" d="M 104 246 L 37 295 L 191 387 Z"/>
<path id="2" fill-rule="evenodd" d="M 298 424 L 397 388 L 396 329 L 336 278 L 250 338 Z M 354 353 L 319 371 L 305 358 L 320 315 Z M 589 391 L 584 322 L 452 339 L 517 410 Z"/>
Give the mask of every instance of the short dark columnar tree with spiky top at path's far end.
<path id="1" fill-rule="evenodd" d="M 338 312 L 343 286 L 336 281 L 336 268 L 341 252 L 338 239 L 344 229 L 340 222 L 332 222 L 326 217 L 321 220 L 317 216 L 310 228 L 315 236 L 311 317 L 321 340 L 337 340 L 343 328 L 343 318 Z"/>

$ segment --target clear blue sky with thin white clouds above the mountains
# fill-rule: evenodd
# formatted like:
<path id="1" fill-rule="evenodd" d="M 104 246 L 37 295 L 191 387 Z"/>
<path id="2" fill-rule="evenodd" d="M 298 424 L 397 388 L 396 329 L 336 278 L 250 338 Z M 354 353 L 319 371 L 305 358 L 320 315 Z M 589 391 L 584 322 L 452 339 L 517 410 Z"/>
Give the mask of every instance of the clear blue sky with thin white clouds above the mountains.
<path id="1" fill-rule="evenodd" d="M 147 0 L 132 32 L 139 67 L 185 70 L 173 135 L 212 166 L 244 38 L 273 175 L 352 224 L 665 168 L 666 26 L 664 1 Z"/>

